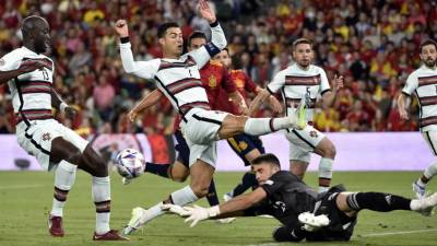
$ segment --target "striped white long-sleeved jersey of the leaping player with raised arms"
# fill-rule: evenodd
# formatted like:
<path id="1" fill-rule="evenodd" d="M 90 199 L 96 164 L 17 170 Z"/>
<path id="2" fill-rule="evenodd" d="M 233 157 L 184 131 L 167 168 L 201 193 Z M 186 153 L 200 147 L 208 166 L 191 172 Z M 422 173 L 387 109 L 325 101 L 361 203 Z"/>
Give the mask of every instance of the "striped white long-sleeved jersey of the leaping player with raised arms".
<path id="1" fill-rule="evenodd" d="M 131 44 L 120 44 L 123 68 L 143 79 L 154 79 L 160 91 L 170 101 L 184 120 L 185 114 L 193 108 L 210 109 L 205 89 L 200 80 L 201 69 L 212 56 L 220 52 L 214 44 L 226 44 L 220 25 L 211 27 L 212 43 L 185 54 L 179 59 L 153 59 L 134 61 Z"/>

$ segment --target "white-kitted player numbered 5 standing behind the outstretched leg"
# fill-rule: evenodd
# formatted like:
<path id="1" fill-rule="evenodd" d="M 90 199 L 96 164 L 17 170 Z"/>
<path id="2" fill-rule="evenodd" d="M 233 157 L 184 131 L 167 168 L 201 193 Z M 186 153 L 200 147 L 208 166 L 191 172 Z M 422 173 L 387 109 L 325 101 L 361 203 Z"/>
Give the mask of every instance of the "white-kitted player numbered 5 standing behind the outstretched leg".
<path id="1" fill-rule="evenodd" d="M 336 77 L 332 90 L 322 68 L 311 65 L 314 60 L 312 43 L 306 38 L 293 43 L 295 63 L 280 71 L 271 83 L 253 99 L 250 114 L 256 112 L 267 97 L 280 92 L 285 102 L 286 114 L 296 112 L 297 106 L 305 99 L 308 105 L 308 126 L 303 129 L 287 129 L 285 137 L 290 141 L 290 171 L 304 178 L 310 161 L 310 153 L 321 155 L 319 163 L 319 191 L 327 191 L 332 178 L 332 165 L 335 157 L 335 147 L 319 130 L 314 128 L 312 115 L 316 99 L 321 96 L 323 106 L 329 107 L 335 99 L 336 91 L 343 87 L 343 78 Z"/>

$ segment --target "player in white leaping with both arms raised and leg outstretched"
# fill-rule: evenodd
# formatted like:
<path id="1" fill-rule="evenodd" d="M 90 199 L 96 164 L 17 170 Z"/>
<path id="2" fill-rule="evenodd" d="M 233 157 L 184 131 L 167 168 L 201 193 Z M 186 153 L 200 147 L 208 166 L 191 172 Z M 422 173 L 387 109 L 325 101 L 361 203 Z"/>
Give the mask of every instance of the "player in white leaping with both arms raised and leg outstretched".
<path id="1" fill-rule="evenodd" d="M 160 91 L 182 118 L 180 129 L 190 149 L 191 175 L 190 185 L 173 192 L 165 201 L 149 210 L 133 209 L 132 219 L 123 230 L 125 234 L 162 215 L 163 203 L 186 204 L 208 194 L 215 171 L 215 141 L 241 132 L 259 136 L 286 128 L 305 127 L 306 122 L 299 120 L 295 114 L 283 118 L 253 119 L 211 110 L 205 89 L 200 81 L 199 69 L 226 46 L 226 38 L 206 1 L 199 1 L 199 13 L 211 25 L 211 43 L 182 56 L 184 39 L 180 27 L 176 23 L 164 23 L 157 32 L 163 58 L 149 61 L 133 60 L 127 22 L 119 20 L 116 23 L 125 70 L 143 79 L 154 79 Z"/>

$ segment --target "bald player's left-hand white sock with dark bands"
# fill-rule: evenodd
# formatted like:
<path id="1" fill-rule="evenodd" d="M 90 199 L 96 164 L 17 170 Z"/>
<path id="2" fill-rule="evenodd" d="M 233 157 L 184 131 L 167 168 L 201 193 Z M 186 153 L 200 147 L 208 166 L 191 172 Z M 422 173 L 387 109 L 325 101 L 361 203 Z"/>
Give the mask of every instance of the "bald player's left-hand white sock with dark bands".
<path id="1" fill-rule="evenodd" d="M 74 184 L 76 165 L 67 161 L 61 161 L 55 171 L 55 196 L 50 214 L 55 216 L 63 215 L 67 195 Z"/>

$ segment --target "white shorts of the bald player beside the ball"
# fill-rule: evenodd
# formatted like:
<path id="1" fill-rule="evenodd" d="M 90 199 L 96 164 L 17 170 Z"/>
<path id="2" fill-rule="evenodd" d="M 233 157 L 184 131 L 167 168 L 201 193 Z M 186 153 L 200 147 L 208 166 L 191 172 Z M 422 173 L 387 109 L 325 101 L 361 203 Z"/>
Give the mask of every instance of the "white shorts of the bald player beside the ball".
<path id="1" fill-rule="evenodd" d="M 16 139 L 20 147 L 28 154 L 34 155 L 46 171 L 50 171 L 58 164 L 49 162 L 51 141 L 58 137 L 71 142 L 81 152 L 88 144 L 88 141 L 55 119 L 34 120 L 31 121 L 29 127 L 25 122 L 16 125 Z"/>

